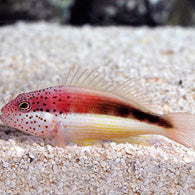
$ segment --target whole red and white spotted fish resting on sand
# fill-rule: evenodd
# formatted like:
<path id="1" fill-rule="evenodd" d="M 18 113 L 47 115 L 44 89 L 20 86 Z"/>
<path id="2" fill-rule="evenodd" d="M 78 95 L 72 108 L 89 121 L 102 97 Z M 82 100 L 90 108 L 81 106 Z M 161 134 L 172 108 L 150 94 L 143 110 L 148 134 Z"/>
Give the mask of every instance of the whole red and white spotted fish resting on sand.
<path id="1" fill-rule="evenodd" d="M 138 88 L 134 79 L 111 82 L 74 67 L 61 85 L 19 94 L 3 106 L 0 119 L 62 148 L 71 142 L 142 143 L 143 135 L 162 135 L 194 147 L 195 115 L 159 114 Z"/>

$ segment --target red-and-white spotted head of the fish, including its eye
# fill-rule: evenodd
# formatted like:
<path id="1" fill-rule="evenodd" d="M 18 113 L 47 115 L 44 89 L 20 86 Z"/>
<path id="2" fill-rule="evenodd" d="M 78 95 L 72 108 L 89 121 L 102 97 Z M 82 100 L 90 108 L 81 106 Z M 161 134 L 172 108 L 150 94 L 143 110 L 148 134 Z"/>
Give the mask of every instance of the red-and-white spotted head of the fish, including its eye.
<path id="1" fill-rule="evenodd" d="M 44 112 L 42 107 L 43 95 L 40 90 L 22 93 L 1 109 L 0 119 L 7 126 L 43 136 L 53 128 L 54 120 L 53 115 Z"/>

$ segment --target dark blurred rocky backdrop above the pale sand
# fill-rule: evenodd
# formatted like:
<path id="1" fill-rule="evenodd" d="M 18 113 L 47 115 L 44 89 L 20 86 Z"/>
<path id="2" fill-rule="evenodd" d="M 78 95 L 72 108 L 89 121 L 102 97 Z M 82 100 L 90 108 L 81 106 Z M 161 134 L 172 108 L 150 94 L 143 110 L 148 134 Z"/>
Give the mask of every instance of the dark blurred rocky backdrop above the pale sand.
<path id="1" fill-rule="evenodd" d="M 70 25 L 195 26 L 195 0 L 0 0 L 0 25 L 39 20 Z"/>

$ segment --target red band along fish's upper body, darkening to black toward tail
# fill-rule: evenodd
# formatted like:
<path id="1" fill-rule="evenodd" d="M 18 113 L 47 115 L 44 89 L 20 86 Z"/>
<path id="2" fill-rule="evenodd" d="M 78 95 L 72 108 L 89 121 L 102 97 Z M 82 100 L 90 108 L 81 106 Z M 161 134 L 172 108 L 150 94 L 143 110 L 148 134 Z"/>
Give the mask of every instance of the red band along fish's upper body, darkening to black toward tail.
<path id="1" fill-rule="evenodd" d="M 50 87 L 30 92 L 32 110 L 50 113 L 93 113 L 133 118 L 139 121 L 172 128 L 163 116 L 144 112 L 115 95 L 76 87 Z"/>

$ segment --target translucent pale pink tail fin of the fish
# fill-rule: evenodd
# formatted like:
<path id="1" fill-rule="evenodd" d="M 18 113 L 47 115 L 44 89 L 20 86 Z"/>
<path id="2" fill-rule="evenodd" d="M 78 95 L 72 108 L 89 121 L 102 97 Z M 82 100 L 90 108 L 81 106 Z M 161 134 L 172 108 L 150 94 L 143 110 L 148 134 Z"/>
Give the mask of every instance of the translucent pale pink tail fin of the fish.
<path id="1" fill-rule="evenodd" d="M 186 147 L 195 147 L 195 115 L 170 113 L 167 117 L 175 128 L 168 130 L 166 136 Z"/>

